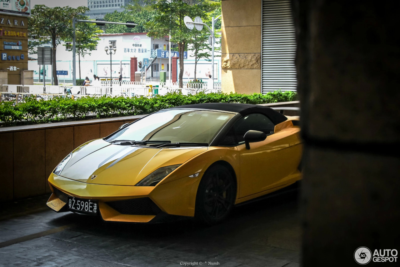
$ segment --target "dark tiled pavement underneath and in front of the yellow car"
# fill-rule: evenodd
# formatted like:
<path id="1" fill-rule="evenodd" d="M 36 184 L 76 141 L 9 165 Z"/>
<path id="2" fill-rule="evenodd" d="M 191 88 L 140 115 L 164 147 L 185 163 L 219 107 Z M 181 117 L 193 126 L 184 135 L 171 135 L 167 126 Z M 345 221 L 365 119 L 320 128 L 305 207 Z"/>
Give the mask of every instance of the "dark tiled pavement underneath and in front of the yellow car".
<path id="1" fill-rule="evenodd" d="M 0 248 L 0 267 L 299 266 L 296 192 L 236 207 L 226 221 L 213 227 L 192 220 L 109 223 L 43 209 L 46 197 L 0 205 L 0 244 L 71 227 Z"/>

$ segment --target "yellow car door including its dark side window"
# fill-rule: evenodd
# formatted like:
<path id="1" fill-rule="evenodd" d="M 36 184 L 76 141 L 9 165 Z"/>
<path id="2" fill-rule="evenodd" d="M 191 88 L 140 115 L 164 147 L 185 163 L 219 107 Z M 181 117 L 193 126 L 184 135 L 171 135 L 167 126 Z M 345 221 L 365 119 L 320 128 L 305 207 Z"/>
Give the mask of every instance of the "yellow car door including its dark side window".
<path id="1" fill-rule="evenodd" d="M 285 135 L 274 134 L 274 127 L 267 116 L 253 113 L 235 122 L 224 139 L 236 143 L 240 154 L 240 198 L 272 189 L 292 172 L 286 164 L 290 143 Z M 244 134 L 248 130 L 265 132 L 267 138 L 246 149 Z"/>

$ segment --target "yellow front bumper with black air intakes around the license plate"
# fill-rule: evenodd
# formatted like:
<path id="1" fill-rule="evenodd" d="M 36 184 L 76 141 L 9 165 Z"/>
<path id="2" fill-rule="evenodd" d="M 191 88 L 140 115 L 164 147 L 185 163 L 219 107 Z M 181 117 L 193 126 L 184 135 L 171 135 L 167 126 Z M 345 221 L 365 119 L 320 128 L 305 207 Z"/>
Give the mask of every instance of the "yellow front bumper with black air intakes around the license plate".
<path id="1" fill-rule="evenodd" d="M 68 195 L 99 202 L 105 221 L 149 223 L 164 221 L 165 215 L 194 216 L 196 193 L 202 173 L 156 187 L 97 185 L 78 182 L 52 173 L 48 179 L 53 194 L 47 206 L 56 212 L 69 211 Z"/>

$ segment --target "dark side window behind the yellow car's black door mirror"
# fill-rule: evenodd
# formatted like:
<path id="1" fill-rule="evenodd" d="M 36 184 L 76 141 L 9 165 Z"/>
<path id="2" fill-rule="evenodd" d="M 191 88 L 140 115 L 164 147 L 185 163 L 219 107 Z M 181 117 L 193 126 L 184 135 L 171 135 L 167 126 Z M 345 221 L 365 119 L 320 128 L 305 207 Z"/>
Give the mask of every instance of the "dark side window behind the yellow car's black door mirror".
<path id="1" fill-rule="evenodd" d="M 270 135 L 274 133 L 274 128 L 275 124 L 267 116 L 260 113 L 249 114 L 235 122 L 220 145 L 229 147 L 244 143 L 244 134 L 248 130 L 261 131 Z"/>

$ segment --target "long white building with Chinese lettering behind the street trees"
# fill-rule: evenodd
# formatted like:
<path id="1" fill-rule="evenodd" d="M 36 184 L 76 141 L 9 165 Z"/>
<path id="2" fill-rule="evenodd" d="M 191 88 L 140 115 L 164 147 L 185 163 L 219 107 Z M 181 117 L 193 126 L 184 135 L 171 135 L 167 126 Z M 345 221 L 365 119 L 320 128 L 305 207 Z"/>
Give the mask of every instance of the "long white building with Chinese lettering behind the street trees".
<path id="1" fill-rule="evenodd" d="M 131 58 L 136 57 L 138 62 L 151 57 L 154 50 L 158 49 L 158 58 L 154 60 L 152 66 L 147 70 L 147 79 L 158 80 L 160 71 L 165 71 L 168 79 L 169 60 L 168 60 L 168 41 L 165 39 L 153 39 L 148 37 L 146 33 L 123 33 L 123 34 L 102 34 L 96 50 L 92 50 L 90 55 L 86 54 L 80 58 L 80 75 L 78 55 L 76 56 L 76 78 L 84 79 L 86 76 L 92 80 L 93 75 L 100 78 L 110 78 L 110 55 L 107 55 L 104 48 L 110 43 L 116 48 L 115 54 L 112 55 L 112 77 L 117 78 L 118 72 L 122 73 L 123 80 L 131 80 Z M 50 45 L 49 45 L 50 46 Z M 172 48 L 175 47 L 172 45 Z M 72 81 L 72 45 L 63 43 L 57 46 L 57 70 L 66 70 L 68 75 L 59 75 L 58 79 L 63 82 Z M 174 54 L 176 52 L 172 51 Z M 30 58 L 37 58 L 37 55 L 30 55 Z M 28 69 L 34 70 L 34 81 L 39 81 L 39 66 L 36 60 L 28 62 Z M 46 80 L 50 80 L 51 66 L 46 65 Z M 197 63 L 198 79 L 208 78 L 211 73 L 211 62 L 200 59 Z M 42 73 L 42 71 L 41 71 Z M 177 62 L 177 77 L 179 75 L 179 60 Z M 221 76 L 221 57 L 220 53 L 216 53 L 214 58 L 214 82 L 220 82 Z M 191 51 L 188 58 L 184 60 L 184 81 L 188 82 L 194 79 L 194 57 Z M 42 74 L 40 75 L 42 79 Z"/>

